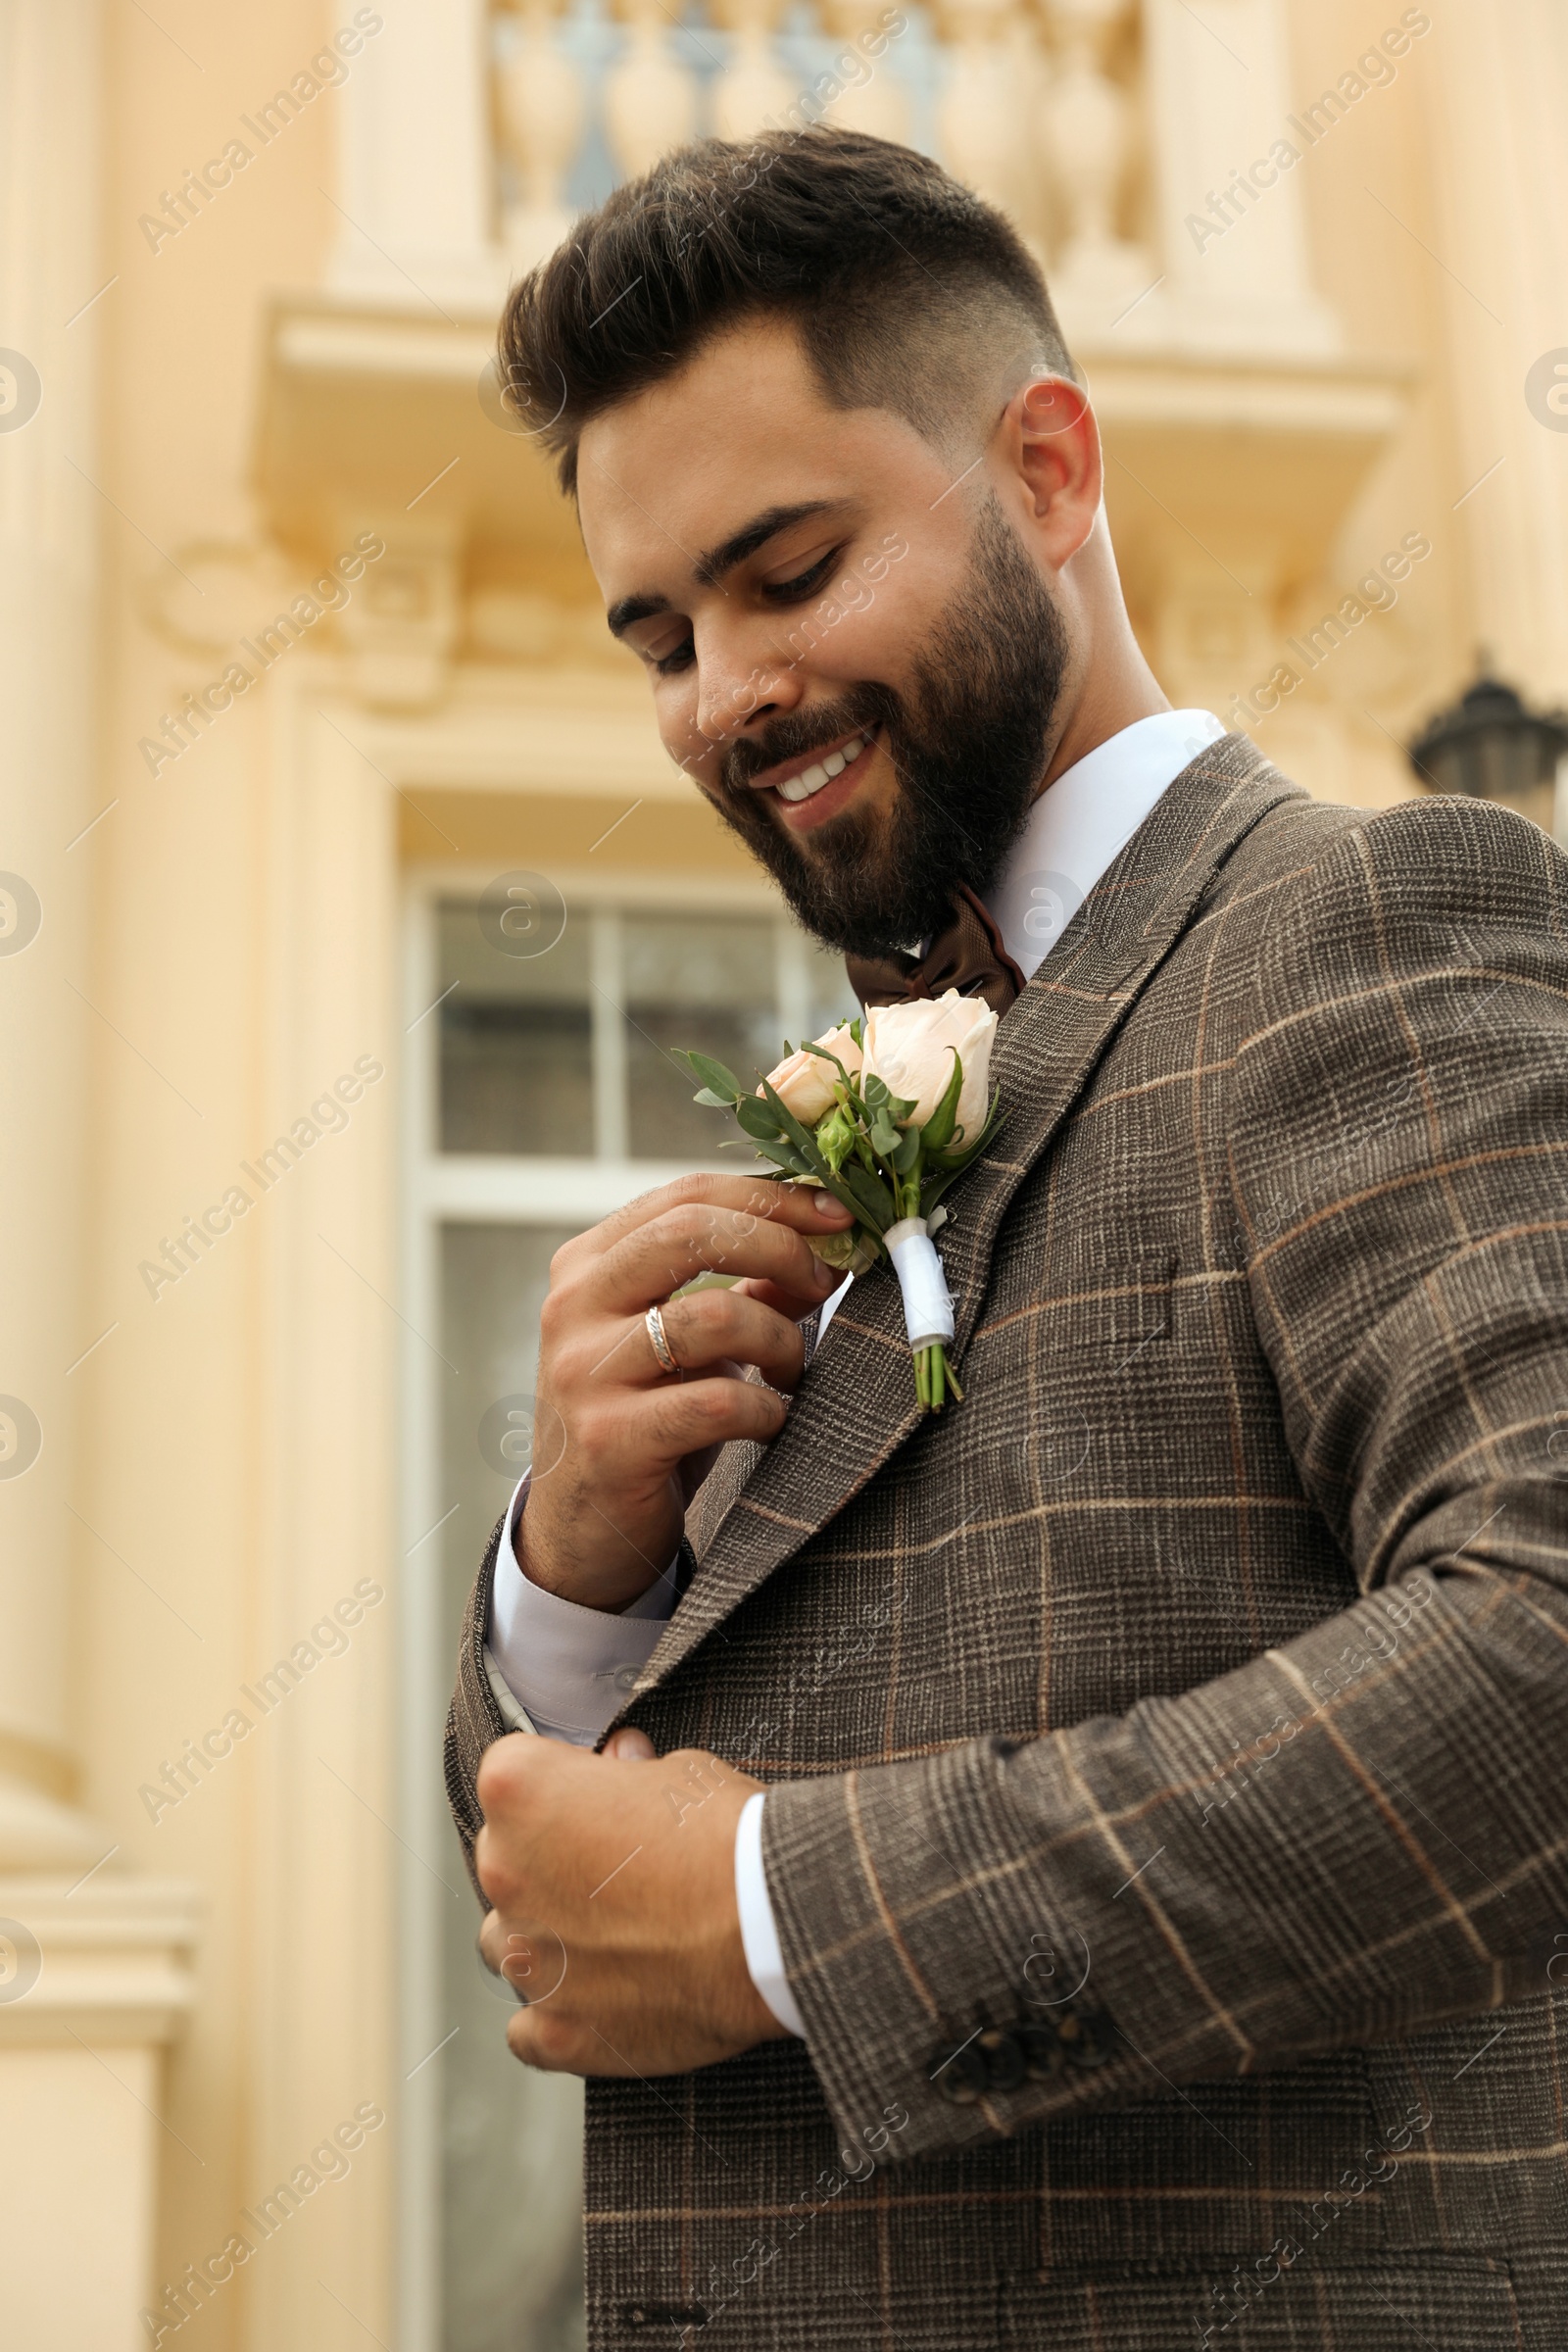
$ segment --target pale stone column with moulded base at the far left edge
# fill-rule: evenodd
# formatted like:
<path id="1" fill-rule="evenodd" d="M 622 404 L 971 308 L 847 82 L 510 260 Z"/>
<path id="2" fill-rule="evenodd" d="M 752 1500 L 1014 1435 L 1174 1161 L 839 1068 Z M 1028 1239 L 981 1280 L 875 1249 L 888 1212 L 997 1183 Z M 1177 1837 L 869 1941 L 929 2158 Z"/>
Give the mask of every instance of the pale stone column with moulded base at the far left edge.
<path id="1" fill-rule="evenodd" d="M 186 1889 L 75 1806 L 73 1515 L 101 1004 L 96 776 L 99 0 L 0 14 L 0 2340 L 143 2340 L 158 2051 L 190 1997 Z"/>

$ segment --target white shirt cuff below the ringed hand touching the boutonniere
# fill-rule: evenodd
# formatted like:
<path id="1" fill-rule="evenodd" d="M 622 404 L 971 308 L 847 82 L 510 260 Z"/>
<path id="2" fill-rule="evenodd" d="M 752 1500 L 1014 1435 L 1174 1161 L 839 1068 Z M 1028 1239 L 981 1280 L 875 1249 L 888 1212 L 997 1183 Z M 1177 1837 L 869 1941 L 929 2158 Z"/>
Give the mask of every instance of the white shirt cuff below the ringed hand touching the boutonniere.
<path id="1" fill-rule="evenodd" d="M 517 1566 L 512 1534 L 527 1501 L 522 1477 L 505 1512 L 489 1597 L 487 1665 L 524 1715 L 517 1731 L 592 1748 L 637 1689 L 675 1609 L 675 1559 L 628 1609 L 583 1609 L 545 1592 Z M 679 1559 L 679 1555 L 677 1555 Z M 501 1710 L 508 1712 L 505 1708 Z"/>

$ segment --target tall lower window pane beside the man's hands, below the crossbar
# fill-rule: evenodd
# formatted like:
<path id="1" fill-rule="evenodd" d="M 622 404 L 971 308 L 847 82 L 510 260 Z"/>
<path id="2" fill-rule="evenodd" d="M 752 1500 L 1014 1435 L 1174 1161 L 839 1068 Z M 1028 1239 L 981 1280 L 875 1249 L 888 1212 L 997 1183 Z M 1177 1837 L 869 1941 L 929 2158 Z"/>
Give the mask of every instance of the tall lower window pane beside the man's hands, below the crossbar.
<path id="1" fill-rule="evenodd" d="M 456 1656 L 484 1541 L 527 1465 L 538 1308 L 571 1225 L 442 1228 L 442 1531 Z M 423 1872 L 418 1872 L 423 1877 Z M 482 1971 L 456 1832 L 428 1882 L 442 1919 L 442 2352 L 576 2352 L 583 2321 L 583 2084 L 505 2049 L 512 1997 Z"/>

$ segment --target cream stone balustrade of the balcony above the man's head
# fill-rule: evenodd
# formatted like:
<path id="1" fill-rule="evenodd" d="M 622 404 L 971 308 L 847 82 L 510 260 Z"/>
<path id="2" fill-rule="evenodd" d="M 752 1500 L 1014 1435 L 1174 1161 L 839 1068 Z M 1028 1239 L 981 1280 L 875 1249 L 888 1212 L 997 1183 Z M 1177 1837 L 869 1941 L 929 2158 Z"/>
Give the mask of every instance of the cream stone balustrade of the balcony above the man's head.
<path id="1" fill-rule="evenodd" d="M 1072 308 L 1133 301 L 1135 0 L 512 0 L 491 9 L 496 235 L 512 268 L 701 132 L 839 122 L 936 153 L 999 202 Z"/>

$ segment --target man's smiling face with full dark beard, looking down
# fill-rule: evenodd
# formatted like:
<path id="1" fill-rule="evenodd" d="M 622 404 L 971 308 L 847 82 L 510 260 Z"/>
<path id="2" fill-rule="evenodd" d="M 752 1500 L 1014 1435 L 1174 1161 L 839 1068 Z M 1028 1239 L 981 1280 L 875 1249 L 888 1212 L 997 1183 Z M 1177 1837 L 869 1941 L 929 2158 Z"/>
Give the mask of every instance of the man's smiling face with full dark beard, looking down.
<path id="1" fill-rule="evenodd" d="M 670 757 L 809 929 L 912 946 L 990 882 L 1067 644 L 980 440 L 950 466 L 835 409 L 792 329 L 750 322 L 585 428 L 578 506 Z"/>

